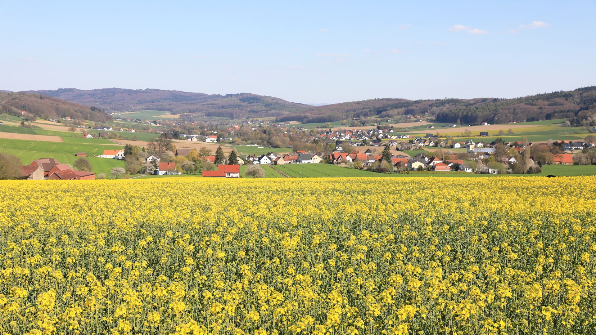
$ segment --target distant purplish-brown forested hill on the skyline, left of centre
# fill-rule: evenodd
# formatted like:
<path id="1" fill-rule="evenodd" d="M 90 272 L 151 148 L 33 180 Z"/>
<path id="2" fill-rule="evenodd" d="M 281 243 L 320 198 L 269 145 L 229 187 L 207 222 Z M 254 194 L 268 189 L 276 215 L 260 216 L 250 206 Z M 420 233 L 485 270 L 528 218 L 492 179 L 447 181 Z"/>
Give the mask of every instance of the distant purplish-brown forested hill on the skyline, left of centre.
<path id="1" fill-rule="evenodd" d="M 281 116 L 312 107 L 280 98 L 250 93 L 204 94 L 163 89 L 103 88 L 81 90 L 61 88 L 55 91 L 27 91 L 45 94 L 105 110 L 164 110 L 174 114 L 197 113 L 231 119 L 243 117 Z"/>

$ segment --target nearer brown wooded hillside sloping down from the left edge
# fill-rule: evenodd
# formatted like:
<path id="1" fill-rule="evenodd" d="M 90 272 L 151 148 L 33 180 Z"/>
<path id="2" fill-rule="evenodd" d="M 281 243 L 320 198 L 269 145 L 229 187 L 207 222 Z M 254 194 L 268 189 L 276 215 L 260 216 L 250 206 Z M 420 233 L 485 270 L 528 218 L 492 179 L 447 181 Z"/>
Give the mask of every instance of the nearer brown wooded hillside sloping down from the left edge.
<path id="1" fill-rule="evenodd" d="M 20 116 L 21 110 L 42 119 L 69 116 L 73 120 L 90 120 L 100 123 L 112 120 L 110 115 L 99 108 L 83 106 L 41 94 L 0 92 L 0 114 Z"/>

